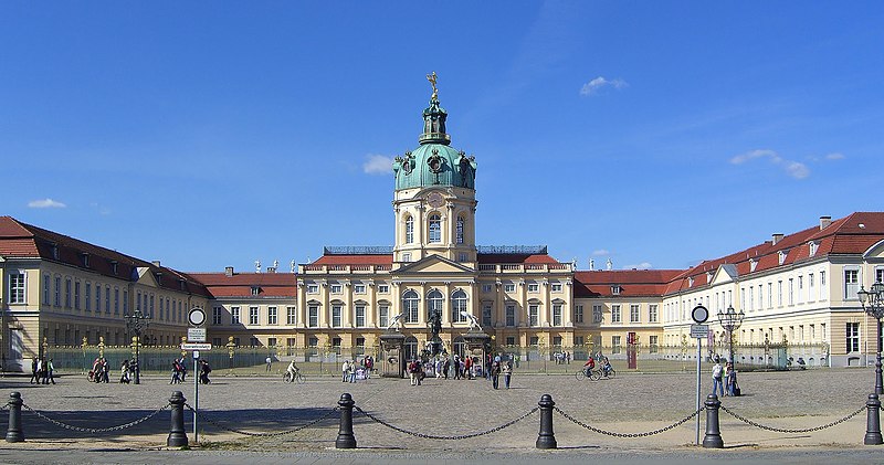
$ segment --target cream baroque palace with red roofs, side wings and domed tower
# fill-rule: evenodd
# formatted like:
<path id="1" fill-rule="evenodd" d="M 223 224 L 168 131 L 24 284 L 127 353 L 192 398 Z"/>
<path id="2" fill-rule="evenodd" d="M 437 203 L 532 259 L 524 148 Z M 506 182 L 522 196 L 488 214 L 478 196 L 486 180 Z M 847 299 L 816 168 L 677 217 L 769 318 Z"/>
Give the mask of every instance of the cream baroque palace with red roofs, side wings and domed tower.
<path id="1" fill-rule="evenodd" d="M 145 344 L 173 346 L 192 307 L 207 310 L 214 346 L 280 353 L 376 353 L 380 335 L 398 330 L 414 356 L 438 313 L 449 351 L 463 350 L 475 319 L 511 350 L 633 347 L 684 358 L 696 341 L 687 337 L 691 309 L 702 304 L 713 315 L 713 347 L 729 336 L 715 314 L 745 314 L 734 334 L 740 362 L 768 362 L 755 348 L 771 345 L 812 366 L 871 360 L 876 326 L 857 290 L 884 279 L 884 212 L 823 216 L 690 270 L 615 271 L 609 262 L 578 271 L 546 246 L 476 245 L 478 162 L 452 147 L 434 84 L 418 147 L 392 166 L 391 246 L 328 246 L 288 272 L 274 263 L 186 273 L 0 216 L 4 369 L 20 370 L 48 347 L 128 345 L 124 316 L 135 310 L 151 318 Z"/>

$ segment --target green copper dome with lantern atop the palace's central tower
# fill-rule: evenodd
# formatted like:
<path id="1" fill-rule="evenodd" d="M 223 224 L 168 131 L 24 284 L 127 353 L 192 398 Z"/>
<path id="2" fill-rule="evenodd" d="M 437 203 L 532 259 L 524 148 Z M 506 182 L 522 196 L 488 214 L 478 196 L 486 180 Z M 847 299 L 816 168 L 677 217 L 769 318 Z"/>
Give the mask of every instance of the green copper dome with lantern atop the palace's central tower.
<path id="1" fill-rule="evenodd" d="M 475 189 L 475 157 L 449 146 L 446 118 L 433 92 L 430 106 L 423 110 L 423 134 L 418 139 L 421 146 L 393 161 L 396 190 L 432 186 Z"/>

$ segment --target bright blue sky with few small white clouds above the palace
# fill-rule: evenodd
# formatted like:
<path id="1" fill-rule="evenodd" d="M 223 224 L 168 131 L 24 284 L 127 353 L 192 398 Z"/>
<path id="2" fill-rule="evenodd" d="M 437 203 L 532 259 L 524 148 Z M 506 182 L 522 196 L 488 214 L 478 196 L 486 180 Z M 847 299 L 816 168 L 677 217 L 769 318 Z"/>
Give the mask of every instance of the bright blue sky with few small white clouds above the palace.
<path id="1" fill-rule="evenodd" d="M 0 3 L 0 214 L 182 271 L 391 245 L 425 74 L 477 243 L 682 268 L 882 210 L 882 2 Z M 388 166 L 389 168 L 389 166 Z"/>

